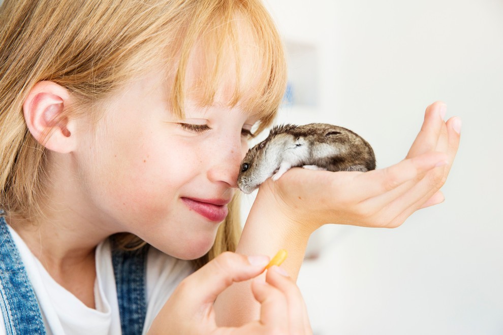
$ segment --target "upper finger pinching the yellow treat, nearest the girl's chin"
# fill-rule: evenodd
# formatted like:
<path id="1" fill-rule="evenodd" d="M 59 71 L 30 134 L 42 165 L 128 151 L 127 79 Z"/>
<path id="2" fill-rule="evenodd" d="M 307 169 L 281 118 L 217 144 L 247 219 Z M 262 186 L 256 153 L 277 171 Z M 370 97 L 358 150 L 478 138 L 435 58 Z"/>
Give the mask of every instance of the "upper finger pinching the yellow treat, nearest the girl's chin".
<path id="1" fill-rule="evenodd" d="M 261 274 L 268 256 L 244 256 L 233 252 L 224 252 L 201 269 L 185 278 L 180 289 L 188 290 L 196 297 L 196 304 L 213 303 L 233 282 L 254 278 Z"/>

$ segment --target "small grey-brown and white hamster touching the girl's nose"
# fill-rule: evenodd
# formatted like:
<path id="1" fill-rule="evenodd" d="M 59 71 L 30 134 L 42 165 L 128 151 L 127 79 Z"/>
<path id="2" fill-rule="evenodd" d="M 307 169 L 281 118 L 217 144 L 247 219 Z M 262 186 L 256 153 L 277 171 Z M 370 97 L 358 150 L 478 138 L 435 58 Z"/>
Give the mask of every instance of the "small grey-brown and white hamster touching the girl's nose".
<path id="1" fill-rule="evenodd" d="M 326 123 L 274 126 L 269 136 L 244 157 L 237 184 L 251 193 L 272 177 L 276 181 L 290 168 L 361 171 L 375 169 L 372 147 L 355 132 Z"/>

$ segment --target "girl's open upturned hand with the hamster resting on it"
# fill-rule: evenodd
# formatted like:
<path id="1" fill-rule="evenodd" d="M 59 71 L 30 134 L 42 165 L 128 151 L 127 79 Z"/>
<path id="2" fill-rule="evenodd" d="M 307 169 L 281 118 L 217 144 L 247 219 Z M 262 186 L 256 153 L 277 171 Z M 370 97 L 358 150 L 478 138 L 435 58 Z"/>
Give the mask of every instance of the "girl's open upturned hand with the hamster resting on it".
<path id="1" fill-rule="evenodd" d="M 406 158 L 389 168 L 359 172 L 292 169 L 270 179 L 257 199 L 296 222 L 306 234 L 325 223 L 397 227 L 420 208 L 444 200 L 444 185 L 459 145 L 461 121 L 444 122 L 445 105 L 426 109 L 424 123 Z"/>

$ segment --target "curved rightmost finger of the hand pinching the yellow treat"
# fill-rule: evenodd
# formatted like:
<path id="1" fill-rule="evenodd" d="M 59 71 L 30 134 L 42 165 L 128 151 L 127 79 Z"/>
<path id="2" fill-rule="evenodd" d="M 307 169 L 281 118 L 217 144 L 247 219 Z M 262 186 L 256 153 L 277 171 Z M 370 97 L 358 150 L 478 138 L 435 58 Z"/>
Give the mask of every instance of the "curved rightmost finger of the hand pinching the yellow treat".
<path id="1" fill-rule="evenodd" d="M 289 314 L 289 333 L 303 334 L 306 329 L 310 329 L 304 299 L 299 287 L 288 274 L 281 267 L 271 266 L 267 271 L 266 281 L 286 296 Z"/>

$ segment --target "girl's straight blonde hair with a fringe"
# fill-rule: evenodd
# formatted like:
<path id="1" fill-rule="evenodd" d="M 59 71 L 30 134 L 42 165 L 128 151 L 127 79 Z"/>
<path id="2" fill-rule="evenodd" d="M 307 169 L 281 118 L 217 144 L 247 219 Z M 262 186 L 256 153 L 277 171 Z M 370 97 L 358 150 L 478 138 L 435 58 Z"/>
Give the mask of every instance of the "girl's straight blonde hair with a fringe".
<path id="1" fill-rule="evenodd" d="M 193 50 L 204 50 L 203 103 L 215 96 L 222 69 L 235 61 L 230 104 L 243 98 L 239 29 L 245 21 L 260 76 L 246 108 L 269 125 L 286 87 L 283 47 L 260 0 L 4 0 L 0 7 L 0 208 L 8 215 L 40 214 L 46 149 L 27 130 L 22 105 L 30 89 L 49 80 L 78 102 L 61 117 L 89 113 L 122 85 L 146 73 L 160 56 L 172 75 L 171 106 L 183 115 L 185 74 Z M 246 64 L 248 66 L 248 64 Z M 249 88 L 249 87 L 248 87 Z M 241 103 L 241 102 L 240 102 Z M 234 250 L 239 235 L 238 201 L 202 262 Z M 125 239 L 124 241 L 130 241 Z"/>

